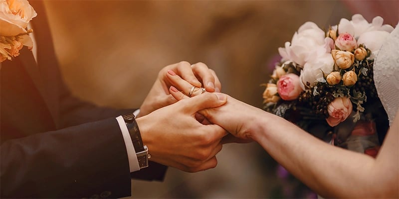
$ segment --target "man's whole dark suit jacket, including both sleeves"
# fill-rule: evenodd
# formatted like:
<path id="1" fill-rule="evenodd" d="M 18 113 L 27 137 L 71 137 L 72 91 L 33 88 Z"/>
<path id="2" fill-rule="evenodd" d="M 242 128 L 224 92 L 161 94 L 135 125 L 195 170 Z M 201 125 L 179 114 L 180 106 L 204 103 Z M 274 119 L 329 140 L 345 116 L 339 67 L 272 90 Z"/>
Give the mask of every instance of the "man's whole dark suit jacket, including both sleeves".
<path id="1" fill-rule="evenodd" d="M 66 89 L 41 1 L 32 20 L 37 64 L 24 47 L 1 64 L 0 197 L 121 198 L 131 177 L 163 180 L 166 166 L 130 174 L 116 116 L 133 110 L 98 107 Z"/>

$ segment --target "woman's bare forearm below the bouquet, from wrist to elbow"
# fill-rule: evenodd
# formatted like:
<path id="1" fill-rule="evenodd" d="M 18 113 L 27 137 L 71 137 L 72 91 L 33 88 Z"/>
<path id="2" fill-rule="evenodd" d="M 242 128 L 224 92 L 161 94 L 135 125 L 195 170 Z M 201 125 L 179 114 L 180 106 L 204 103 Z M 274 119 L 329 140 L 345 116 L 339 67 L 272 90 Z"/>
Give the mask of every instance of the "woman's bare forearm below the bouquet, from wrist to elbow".
<path id="1" fill-rule="evenodd" d="M 265 112 L 258 118 L 252 138 L 321 196 L 358 198 L 388 194 L 384 183 L 376 183 L 381 178 L 374 172 L 374 158 L 324 143 L 275 115 Z"/>

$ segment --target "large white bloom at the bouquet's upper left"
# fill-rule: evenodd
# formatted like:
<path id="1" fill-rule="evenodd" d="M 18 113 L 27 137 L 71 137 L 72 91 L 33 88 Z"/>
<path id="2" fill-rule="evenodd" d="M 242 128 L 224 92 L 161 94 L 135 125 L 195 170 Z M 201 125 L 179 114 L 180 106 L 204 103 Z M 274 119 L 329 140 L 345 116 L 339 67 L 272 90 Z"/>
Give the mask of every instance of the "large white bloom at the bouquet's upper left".
<path id="1" fill-rule="evenodd" d="M 306 22 L 295 32 L 291 42 L 285 42 L 284 48 L 279 48 L 278 52 L 283 60 L 304 66 L 311 54 L 320 51 L 320 48 L 325 49 L 324 38 L 324 31 L 316 23 Z"/>

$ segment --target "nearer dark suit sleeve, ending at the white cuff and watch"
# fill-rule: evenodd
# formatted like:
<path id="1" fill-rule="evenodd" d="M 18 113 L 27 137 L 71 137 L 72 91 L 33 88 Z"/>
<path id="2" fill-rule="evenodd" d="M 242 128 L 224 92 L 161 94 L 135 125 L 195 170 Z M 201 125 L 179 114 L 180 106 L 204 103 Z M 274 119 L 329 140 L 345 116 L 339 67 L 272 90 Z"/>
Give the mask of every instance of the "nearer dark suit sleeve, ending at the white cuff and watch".
<path id="1" fill-rule="evenodd" d="M 1 144 L 1 198 L 131 195 L 126 147 L 118 122 L 96 122 Z"/>

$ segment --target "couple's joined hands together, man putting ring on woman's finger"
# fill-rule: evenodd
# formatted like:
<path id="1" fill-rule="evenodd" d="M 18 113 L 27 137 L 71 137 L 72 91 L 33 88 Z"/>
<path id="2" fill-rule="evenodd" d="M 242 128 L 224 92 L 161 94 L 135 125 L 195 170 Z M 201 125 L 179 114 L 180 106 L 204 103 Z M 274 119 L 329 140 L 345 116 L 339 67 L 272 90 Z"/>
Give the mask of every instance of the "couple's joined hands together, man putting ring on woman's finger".
<path id="1" fill-rule="evenodd" d="M 136 119 L 150 160 L 198 172 L 216 167 L 222 144 L 250 142 L 251 118 L 262 110 L 220 91 L 203 63 L 164 67 Z"/>

